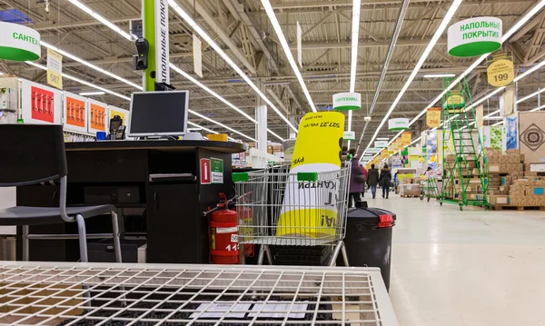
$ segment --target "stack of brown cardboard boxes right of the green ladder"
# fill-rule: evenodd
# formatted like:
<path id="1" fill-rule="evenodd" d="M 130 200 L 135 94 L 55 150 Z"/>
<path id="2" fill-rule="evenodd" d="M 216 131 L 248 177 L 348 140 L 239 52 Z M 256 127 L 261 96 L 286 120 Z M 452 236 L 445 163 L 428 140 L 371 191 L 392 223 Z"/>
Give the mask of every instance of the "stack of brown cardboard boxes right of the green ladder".
<path id="1" fill-rule="evenodd" d="M 545 180 L 530 172 L 524 154 L 486 149 L 489 163 L 489 201 L 493 206 L 545 206 Z M 526 167 L 526 168 L 525 168 Z M 526 171 L 526 172 L 525 172 Z"/>

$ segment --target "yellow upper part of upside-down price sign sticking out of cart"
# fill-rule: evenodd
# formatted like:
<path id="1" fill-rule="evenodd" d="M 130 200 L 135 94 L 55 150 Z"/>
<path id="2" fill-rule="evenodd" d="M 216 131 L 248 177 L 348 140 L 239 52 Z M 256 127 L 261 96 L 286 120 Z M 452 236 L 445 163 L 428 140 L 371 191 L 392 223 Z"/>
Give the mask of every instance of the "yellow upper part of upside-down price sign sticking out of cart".
<path id="1" fill-rule="evenodd" d="M 292 169 L 312 163 L 341 166 L 344 114 L 320 112 L 305 114 L 293 150 Z"/>

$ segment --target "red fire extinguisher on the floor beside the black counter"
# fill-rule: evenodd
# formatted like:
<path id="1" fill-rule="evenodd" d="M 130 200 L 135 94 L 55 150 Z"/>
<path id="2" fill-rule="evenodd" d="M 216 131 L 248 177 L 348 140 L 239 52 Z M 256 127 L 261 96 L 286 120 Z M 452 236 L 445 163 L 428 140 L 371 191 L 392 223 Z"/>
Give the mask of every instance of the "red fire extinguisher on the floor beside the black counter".
<path id="1" fill-rule="evenodd" d="M 210 261 L 218 264 L 239 263 L 237 213 L 227 208 L 227 200 L 220 193 L 217 210 L 210 215 Z"/>

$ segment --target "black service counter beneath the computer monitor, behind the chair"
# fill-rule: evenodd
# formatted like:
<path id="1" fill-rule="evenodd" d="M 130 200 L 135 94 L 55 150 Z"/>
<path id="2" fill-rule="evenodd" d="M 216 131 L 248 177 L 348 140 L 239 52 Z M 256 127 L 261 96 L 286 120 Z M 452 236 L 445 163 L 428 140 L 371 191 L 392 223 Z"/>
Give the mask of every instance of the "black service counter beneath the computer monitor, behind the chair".
<path id="1" fill-rule="evenodd" d="M 105 141 L 66 143 L 67 204 L 112 203 L 144 209 L 146 262 L 207 263 L 208 225 L 202 212 L 218 193 L 233 196 L 232 153 L 242 143 L 213 141 Z M 46 158 L 45 158 L 46 159 Z M 58 205 L 59 186 L 18 187 L 17 204 Z M 87 232 L 111 232 L 104 216 L 86 220 Z M 120 221 L 124 239 L 124 221 Z M 17 252 L 21 252 L 17 230 Z M 31 226 L 32 233 L 77 233 L 75 223 Z M 77 240 L 31 240 L 31 261 L 75 262 Z M 92 242 L 90 242 L 91 245 Z M 122 244 L 123 247 L 123 244 Z M 18 257 L 20 259 L 20 257 Z"/>

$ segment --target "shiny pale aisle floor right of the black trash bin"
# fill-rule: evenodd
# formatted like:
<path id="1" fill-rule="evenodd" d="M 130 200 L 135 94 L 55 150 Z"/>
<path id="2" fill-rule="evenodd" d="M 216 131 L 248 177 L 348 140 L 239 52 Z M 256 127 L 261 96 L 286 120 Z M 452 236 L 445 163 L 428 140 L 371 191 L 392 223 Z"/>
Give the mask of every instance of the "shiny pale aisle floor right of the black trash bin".
<path id="1" fill-rule="evenodd" d="M 398 215 L 390 294 L 401 326 L 545 326 L 545 212 L 366 199 Z"/>

